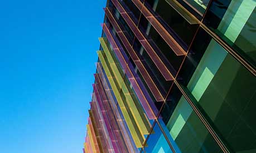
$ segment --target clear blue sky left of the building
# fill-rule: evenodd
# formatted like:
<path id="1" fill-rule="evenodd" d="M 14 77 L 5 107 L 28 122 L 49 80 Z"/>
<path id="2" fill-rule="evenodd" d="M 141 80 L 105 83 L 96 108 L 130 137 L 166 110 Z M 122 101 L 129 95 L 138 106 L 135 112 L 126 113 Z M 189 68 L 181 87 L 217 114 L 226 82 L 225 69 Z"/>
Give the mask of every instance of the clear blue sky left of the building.
<path id="1" fill-rule="evenodd" d="M 0 3 L 0 152 L 82 152 L 105 0 Z"/>

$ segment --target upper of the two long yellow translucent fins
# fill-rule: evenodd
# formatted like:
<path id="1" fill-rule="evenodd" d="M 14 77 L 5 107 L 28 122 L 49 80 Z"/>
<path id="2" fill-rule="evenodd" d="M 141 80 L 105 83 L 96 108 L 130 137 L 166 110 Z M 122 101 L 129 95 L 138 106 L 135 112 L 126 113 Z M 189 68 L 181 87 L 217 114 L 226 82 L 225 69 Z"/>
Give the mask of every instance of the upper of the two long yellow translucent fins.
<path id="1" fill-rule="evenodd" d="M 128 90 L 128 87 L 125 85 L 123 77 L 119 72 L 119 68 L 117 67 L 117 64 L 119 64 L 119 63 L 116 64 L 114 62 L 115 57 L 112 56 L 112 54 L 110 53 L 110 50 L 109 50 L 105 40 L 103 38 L 99 38 L 99 40 L 100 40 L 100 44 L 103 47 L 104 53 L 109 61 L 112 72 L 114 73 L 115 78 L 117 78 L 117 81 L 119 83 L 119 86 L 121 86 L 121 88 L 122 88 L 122 91 L 124 93 L 124 96 L 126 98 L 128 106 L 129 106 L 131 112 L 133 113 L 133 118 L 137 122 L 137 125 L 138 125 L 139 129 L 141 130 L 142 134 L 149 134 L 150 126 L 148 125 L 148 120 L 144 116 L 141 105 L 139 103 L 136 103 L 136 101 L 133 100 L 131 93 Z M 111 62 L 113 62 L 113 63 L 111 63 Z"/>

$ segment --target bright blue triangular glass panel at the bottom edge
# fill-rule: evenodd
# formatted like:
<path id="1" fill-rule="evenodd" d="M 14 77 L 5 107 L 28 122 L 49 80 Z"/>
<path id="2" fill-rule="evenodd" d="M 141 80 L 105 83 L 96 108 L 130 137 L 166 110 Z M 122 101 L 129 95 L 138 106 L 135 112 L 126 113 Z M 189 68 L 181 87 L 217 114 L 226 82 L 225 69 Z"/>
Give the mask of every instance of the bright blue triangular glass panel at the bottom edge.
<path id="1" fill-rule="evenodd" d="M 172 152 L 159 125 L 156 123 L 144 146 L 145 152 Z"/>

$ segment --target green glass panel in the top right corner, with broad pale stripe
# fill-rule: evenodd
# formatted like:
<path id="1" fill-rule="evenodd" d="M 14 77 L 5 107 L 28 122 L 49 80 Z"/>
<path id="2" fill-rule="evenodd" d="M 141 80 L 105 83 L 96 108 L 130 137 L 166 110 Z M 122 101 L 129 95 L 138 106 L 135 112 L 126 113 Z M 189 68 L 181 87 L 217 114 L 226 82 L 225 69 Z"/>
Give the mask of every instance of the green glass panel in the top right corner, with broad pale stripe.
<path id="1" fill-rule="evenodd" d="M 256 1 L 215 0 L 204 23 L 256 67 Z"/>

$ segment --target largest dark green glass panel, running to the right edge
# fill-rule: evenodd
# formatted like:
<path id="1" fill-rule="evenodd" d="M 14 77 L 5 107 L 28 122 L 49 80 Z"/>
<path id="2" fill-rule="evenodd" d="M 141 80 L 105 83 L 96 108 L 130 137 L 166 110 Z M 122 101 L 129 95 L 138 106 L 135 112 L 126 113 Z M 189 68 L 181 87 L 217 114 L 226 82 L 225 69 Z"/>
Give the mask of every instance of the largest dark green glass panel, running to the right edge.
<path id="1" fill-rule="evenodd" d="M 232 151 L 255 152 L 256 78 L 252 73 L 201 31 L 180 77 Z"/>

